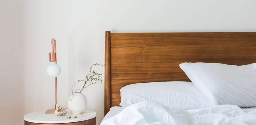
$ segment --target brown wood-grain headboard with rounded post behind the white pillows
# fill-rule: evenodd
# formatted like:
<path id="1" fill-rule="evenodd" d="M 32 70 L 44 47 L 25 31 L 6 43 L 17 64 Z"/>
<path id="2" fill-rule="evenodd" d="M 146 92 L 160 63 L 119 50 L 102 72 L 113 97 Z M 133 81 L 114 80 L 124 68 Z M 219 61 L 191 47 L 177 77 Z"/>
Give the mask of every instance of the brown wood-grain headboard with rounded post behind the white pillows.
<path id="1" fill-rule="evenodd" d="M 109 62 L 108 62 L 109 61 Z M 245 65 L 256 62 L 256 32 L 105 34 L 105 115 L 119 106 L 129 84 L 190 81 L 184 62 Z"/>

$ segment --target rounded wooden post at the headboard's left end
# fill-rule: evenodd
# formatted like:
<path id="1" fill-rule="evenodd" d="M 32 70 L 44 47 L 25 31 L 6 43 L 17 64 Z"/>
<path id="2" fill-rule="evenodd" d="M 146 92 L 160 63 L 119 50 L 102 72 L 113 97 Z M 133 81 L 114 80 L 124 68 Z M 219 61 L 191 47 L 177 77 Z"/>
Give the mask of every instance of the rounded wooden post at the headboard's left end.
<path id="1" fill-rule="evenodd" d="M 108 63 L 108 64 L 107 64 Z M 105 33 L 105 92 L 104 92 L 104 116 L 111 108 L 111 49 L 110 31 Z"/>

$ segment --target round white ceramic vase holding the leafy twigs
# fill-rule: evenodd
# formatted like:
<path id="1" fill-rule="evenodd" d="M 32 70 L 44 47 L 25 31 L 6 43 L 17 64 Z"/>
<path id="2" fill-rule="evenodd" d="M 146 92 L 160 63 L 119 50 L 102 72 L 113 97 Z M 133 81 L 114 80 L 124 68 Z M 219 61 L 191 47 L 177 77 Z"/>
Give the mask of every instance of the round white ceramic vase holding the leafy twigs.
<path id="1" fill-rule="evenodd" d="M 73 114 L 81 114 L 87 108 L 87 100 L 83 93 L 75 93 L 74 97 L 71 95 L 68 100 L 68 109 Z M 72 99 L 71 99 L 72 98 Z M 71 101 L 70 101 L 71 99 Z"/>

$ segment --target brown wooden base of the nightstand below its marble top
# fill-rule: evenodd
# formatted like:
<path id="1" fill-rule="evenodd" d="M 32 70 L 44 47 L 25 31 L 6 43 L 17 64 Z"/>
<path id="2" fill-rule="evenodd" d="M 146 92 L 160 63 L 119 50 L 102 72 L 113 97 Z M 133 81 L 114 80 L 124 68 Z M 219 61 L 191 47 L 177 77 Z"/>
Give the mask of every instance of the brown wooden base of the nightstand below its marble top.
<path id="1" fill-rule="evenodd" d="M 95 125 L 96 124 L 96 117 L 79 122 L 72 122 L 72 123 L 60 123 L 60 124 L 42 124 L 42 123 L 33 123 L 24 120 L 24 125 Z"/>

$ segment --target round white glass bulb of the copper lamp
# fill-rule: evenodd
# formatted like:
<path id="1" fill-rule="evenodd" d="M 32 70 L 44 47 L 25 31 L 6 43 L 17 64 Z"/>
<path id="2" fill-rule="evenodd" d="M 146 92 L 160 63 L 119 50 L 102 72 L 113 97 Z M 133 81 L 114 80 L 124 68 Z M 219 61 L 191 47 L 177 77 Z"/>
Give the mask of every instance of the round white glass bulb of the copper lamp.
<path id="1" fill-rule="evenodd" d="M 47 75 L 53 78 L 59 76 L 60 72 L 61 72 L 61 69 L 59 65 L 56 64 L 56 62 L 51 62 L 51 64 L 46 68 Z"/>

